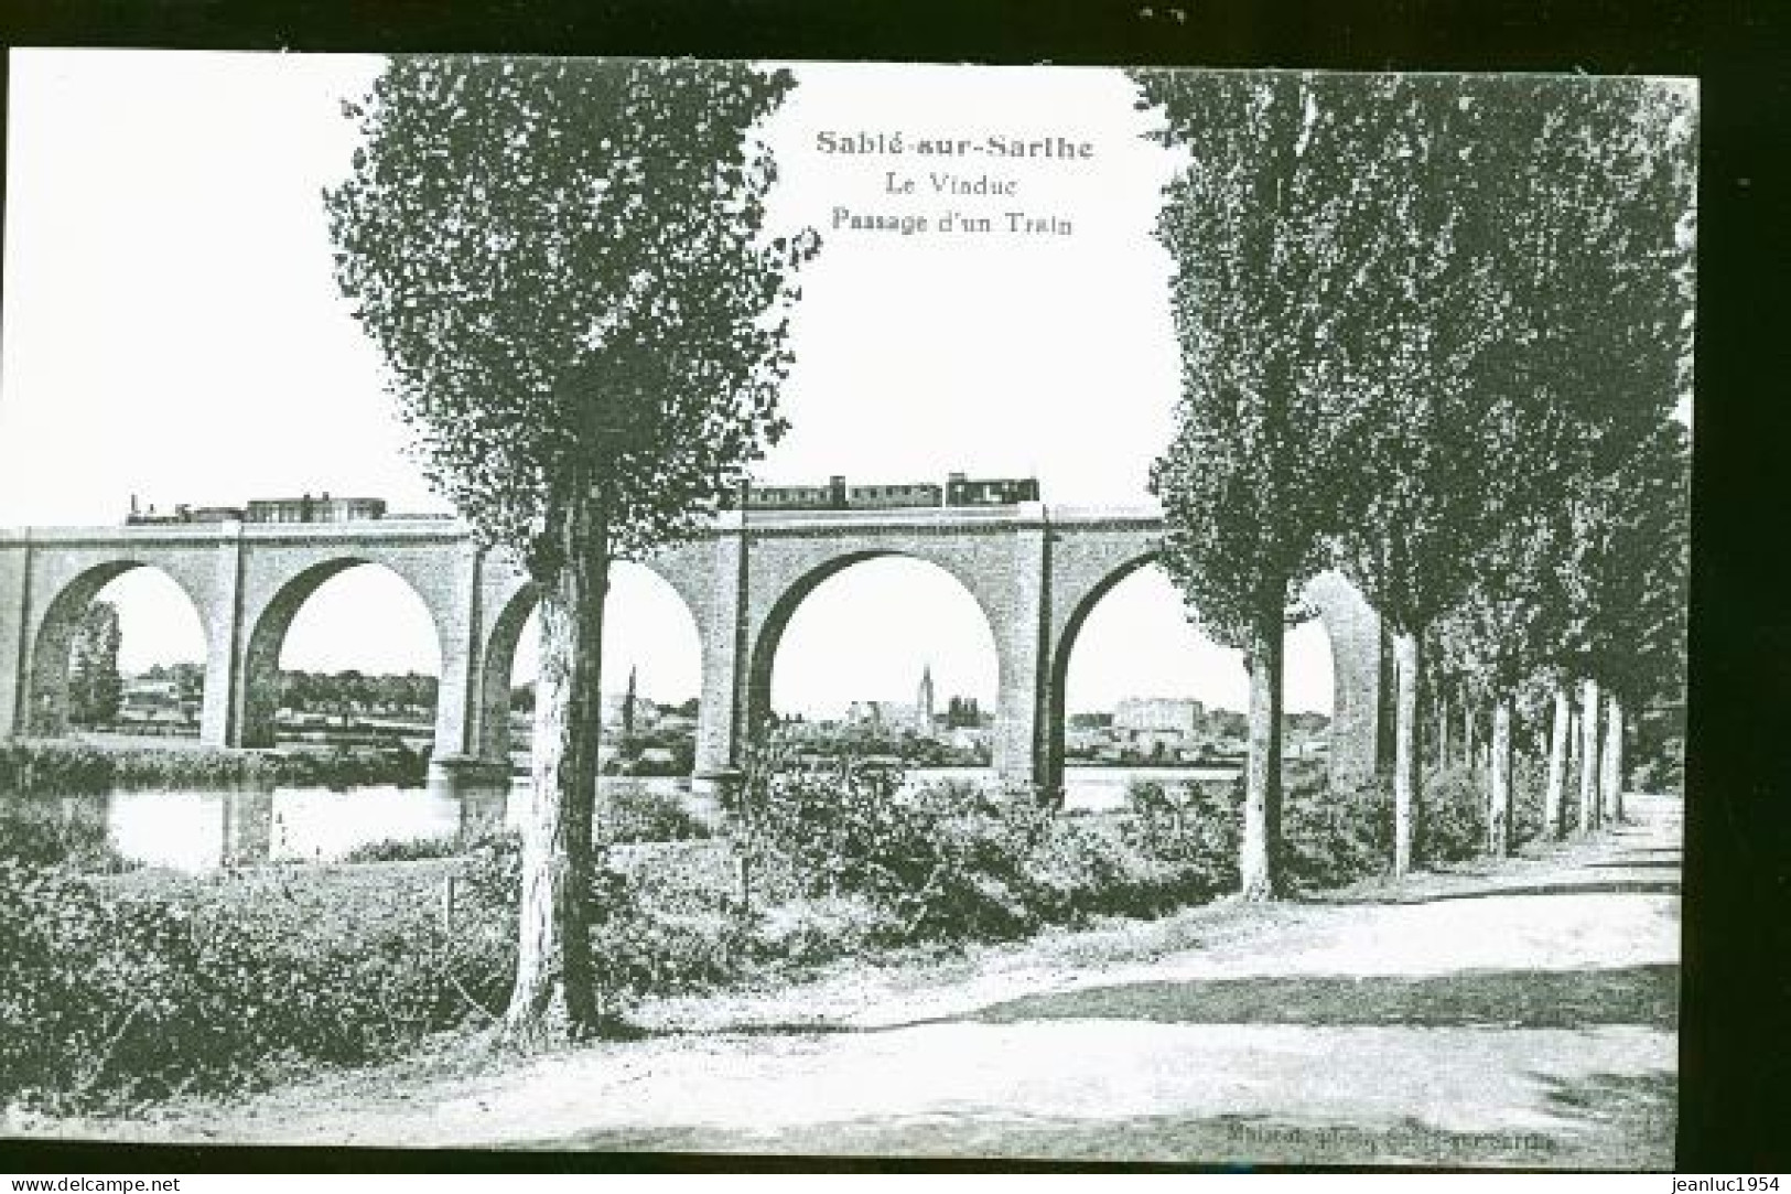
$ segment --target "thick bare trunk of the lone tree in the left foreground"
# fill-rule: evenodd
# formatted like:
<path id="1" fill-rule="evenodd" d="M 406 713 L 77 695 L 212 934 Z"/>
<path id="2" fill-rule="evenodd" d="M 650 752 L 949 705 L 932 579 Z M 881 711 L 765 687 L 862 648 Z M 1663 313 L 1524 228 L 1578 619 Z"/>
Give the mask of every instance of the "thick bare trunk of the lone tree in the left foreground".
<path id="1" fill-rule="evenodd" d="M 523 823 L 521 936 L 505 1034 L 539 1040 L 598 1024 L 591 968 L 591 862 L 609 536 L 598 502 L 575 484 L 559 567 L 541 579 L 534 791 Z"/>

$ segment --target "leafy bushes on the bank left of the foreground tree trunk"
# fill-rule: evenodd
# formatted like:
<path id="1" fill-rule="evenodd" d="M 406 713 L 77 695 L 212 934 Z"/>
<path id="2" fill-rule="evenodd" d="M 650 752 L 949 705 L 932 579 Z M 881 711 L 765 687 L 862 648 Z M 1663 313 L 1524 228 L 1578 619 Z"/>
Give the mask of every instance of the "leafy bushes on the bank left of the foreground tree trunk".
<path id="1" fill-rule="evenodd" d="M 426 893 L 424 893 L 426 895 Z M 129 895 L 0 862 L 0 1103 L 52 1112 L 362 1063 L 482 1020 L 514 916 L 219 877 Z"/>

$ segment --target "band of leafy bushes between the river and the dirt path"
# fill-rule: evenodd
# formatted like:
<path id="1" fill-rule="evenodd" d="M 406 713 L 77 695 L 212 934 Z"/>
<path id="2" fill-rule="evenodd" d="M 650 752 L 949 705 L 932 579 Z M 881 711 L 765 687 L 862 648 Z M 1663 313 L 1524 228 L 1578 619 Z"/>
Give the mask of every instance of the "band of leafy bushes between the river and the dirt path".
<path id="1" fill-rule="evenodd" d="M 1331 792 L 1316 773 L 1290 774 L 1282 862 L 1295 887 L 1386 868 L 1384 780 Z M 1521 769 L 1521 819 L 1537 789 L 1535 767 Z M 738 846 L 616 846 L 591 877 L 611 1015 L 863 950 L 1159 914 L 1238 884 L 1241 782 L 1137 783 L 1125 812 L 1100 818 L 974 787 L 910 791 L 865 767 L 763 771 L 749 792 Z M 645 825 L 684 814 L 645 803 Z M 296 1061 L 371 1061 L 485 1022 L 514 982 L 514 834 L 458 864 L 444 923 L 437 882 L 410 868 L 347 887 L 278 871 L 127 887 L 45 866 L 66 844 L 56 832 L 23 830 L 14 852 L 27 857 L 0 859 L 0 1104 L 104 1108 L 231 1090 Z M 1433 776 L 1424 857 L 1467 857 L 1483 834 L 1483 776 Z M 756 877 L 750 914 L 736 848 Z"/>

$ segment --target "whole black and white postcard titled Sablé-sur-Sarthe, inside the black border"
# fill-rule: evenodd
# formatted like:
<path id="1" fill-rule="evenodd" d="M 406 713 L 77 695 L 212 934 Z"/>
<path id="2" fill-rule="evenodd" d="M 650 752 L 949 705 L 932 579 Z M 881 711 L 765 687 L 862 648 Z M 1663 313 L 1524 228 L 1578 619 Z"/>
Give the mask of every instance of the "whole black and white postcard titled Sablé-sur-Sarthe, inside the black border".
<path id="1" fill-rule="evenodd" d="M 7 84 L 0 1137 L 1675 1165 L 1694 79 Z"/>

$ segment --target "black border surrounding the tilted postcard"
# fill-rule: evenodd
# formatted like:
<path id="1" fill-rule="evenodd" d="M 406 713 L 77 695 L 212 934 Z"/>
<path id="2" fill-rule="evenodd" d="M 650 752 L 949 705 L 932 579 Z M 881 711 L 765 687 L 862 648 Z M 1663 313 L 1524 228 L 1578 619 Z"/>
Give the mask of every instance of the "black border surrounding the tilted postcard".
<path id="1" fill-rule="evenodd" d="M 1791 1171 L 1791 376 L 1782 0 L 14 0 L 5 45 L 690 54 L 1701 79 L 1678 1167 Z M 0 66 L 0 81 L 4 81 Z M 4 394 L 0 394 L 4 400 Z M 5 1171 L 965 1171 L 1019 1162 L 0 1142 Z M 1137 1169 L 1137 1167 L 1132 1167 Z"/>

